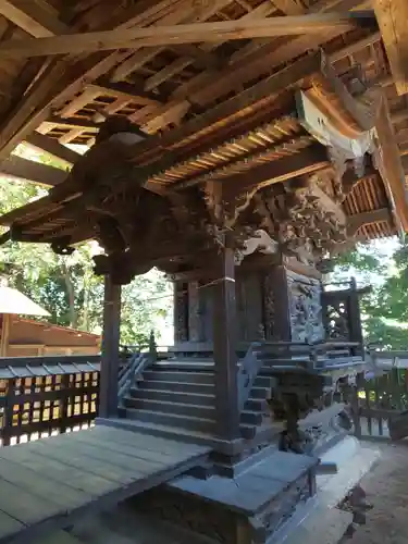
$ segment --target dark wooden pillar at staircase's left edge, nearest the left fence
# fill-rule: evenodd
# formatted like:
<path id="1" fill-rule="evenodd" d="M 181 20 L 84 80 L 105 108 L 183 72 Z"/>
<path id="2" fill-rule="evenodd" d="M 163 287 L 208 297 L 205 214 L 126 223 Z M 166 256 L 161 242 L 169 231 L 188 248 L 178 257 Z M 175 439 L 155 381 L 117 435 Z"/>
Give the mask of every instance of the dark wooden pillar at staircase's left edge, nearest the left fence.
<path id="1" fill-rule="evenodd" d="M 121 286 L 104 277 L 102 358 L 99 385 L 99 417 L 118 416 L 118 372 L 121 325 Z"/>

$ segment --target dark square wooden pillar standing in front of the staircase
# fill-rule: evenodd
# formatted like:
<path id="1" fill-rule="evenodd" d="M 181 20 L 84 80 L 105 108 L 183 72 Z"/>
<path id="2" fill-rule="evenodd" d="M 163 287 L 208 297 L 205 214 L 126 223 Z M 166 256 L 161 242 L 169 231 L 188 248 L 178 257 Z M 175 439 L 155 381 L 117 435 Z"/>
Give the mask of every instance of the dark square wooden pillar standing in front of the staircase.
<path id="1" fill-rule="evenodd" d="M 212 286 L 217 434 L 231 441 L 239 436 L 234 250 L 225 247 L 214 260 L 218 271 Z"/>

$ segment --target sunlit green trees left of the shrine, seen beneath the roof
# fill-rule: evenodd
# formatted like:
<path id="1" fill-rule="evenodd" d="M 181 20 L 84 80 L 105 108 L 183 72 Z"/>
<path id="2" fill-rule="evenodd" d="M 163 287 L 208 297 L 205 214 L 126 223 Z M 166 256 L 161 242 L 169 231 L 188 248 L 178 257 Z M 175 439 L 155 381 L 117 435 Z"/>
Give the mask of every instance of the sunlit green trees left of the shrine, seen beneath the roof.
<path id="1" fill-rule="evenodd" d="M 64 168 L 41 157 L 39 160 Z M 34 184 L 1 177 L 0 213 L 46 194 Z M 0 234 L 3 231 L 0 227 Z M 103 279 L 94 274 L 91 259 L 97 250 L 95 243 L 87 243 L 78 246 L 72 256 L 61 257 L 48 245 L 9 242 L 0 247 L 0 274 L 10 286 L 47 308 L 52 323 L 101 333 Z M 163 330 L 170 326 L 171 307 L 172 286 L 163 274 L 151 271 L 136 277 L 122 293 L 121 342 L 147 343 L 150 330 L 154 330 L 160 342 Z"/>

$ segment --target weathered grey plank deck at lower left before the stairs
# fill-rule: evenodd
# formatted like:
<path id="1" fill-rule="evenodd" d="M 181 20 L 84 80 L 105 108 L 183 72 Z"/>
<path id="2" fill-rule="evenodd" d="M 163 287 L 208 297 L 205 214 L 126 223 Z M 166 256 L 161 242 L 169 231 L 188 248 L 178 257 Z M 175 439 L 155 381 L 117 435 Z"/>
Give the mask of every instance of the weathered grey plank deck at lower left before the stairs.
<path id="1" fill-rule="evenodd" d="M 30 542 L 199 465 L 205 446 L 108 426 L 0 448 L 0 543 Z"/>

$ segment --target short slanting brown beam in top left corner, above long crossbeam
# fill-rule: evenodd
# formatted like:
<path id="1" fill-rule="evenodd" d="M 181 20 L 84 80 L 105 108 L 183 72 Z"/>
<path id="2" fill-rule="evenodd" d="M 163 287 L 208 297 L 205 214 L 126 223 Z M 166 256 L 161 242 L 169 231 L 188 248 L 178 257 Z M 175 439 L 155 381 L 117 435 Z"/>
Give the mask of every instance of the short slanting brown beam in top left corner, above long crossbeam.
<path id="1" fill-rule="evenodd" d="M 0 14 L 35 38 L 70 33 L 57 10 L 45 0 L 1 0 Z"/>

